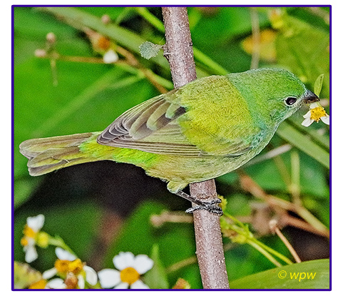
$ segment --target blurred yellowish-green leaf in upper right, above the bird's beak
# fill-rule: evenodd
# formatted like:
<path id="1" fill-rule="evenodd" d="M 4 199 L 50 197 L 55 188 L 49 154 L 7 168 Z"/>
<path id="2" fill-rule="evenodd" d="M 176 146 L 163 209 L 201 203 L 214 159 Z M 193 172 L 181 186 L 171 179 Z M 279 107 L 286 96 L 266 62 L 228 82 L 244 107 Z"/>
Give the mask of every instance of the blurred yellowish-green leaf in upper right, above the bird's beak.
<path id="1" fill-rule="evenodd" d="M 329 96 L 329 32 L 282 11 L 274 14 L 277 63 L 295 73 L 309 88 L 324 73 L 322 95 Z"/>

